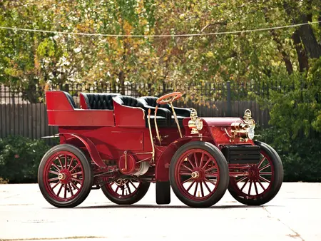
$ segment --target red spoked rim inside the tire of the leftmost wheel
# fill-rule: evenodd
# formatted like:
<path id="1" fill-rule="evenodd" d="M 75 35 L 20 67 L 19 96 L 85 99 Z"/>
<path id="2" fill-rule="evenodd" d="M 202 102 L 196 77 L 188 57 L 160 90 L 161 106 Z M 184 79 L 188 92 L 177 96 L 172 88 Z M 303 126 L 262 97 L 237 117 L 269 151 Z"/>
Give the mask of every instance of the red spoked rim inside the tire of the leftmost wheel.
<path id="1" fill-rule="evenodd" d="M 83 165 L 73 153 L 59 151 L 47 161 L 44 168 L 44 185 L 58 202 L 76 198 L 83 188 Z"/>

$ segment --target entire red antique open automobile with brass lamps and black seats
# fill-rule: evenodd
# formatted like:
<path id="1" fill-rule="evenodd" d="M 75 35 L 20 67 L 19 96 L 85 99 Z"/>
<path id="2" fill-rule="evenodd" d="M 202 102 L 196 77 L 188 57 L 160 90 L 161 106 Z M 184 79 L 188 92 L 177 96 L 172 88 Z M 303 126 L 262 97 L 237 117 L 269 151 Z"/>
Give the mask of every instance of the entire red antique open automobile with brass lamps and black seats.
<path id="1" fill-rule="evenodd" d="M 59 138 L 39 165 L 44 198 L 76 207 L 93 189 L 131 205 L 156 184 L 156 203 L 170 203 L 170 189 L 190 207 L 215 205 L 226 190 L 245 205 L 263 205 L 283 181 L 279 155 L 254 141 L 255 120 L 198 117 L 173 105 L 180 92 L 133 98 L 118 93 L 46 91 L 49 125 Z"/>

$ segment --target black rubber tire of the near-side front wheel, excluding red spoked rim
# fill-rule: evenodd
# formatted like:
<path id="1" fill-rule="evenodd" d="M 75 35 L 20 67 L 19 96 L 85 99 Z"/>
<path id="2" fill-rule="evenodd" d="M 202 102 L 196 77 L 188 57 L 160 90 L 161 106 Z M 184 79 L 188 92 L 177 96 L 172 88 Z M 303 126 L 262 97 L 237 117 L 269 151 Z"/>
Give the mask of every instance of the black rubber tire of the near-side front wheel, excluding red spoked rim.
<path id="1" fill-rule="evenodd" d="M 184 153 L 188 152 L 189 150 L 196 150 L 201 149 L 205 150 L 211 156 L 214 158 L 215 162 L 217 163 L 218 170 L 219 170 L 219 181 L 217 186 L 215 185 L 215 188 L 213 190 L 213 194 L 209 194 L 208 198 L 203 198 L 203 200 L 198 200 L 196 197 L 189 197 L 188 194 L 183 193 L 184 190 L 178 183 L 178 181 L 175 178 L 175 172 L 177 168 L 179 168 L 180 163 L 178 161 L 180 160 L 182 155 L 185 155 Z M 202 159 L 200 159 L 202 160 Z M 198 160 L 195 160 L 196 163 Z M 200 161 L 201 162 L 201 161 Z M 205 164 L 206 165 L 206 164 Z M 196 166 L 196 165 L 195 165 Z M 205 166 L 204 166 L 205 168 Z M 178 169 L 179 170 L 179 169 Z M 190 143 L 186 143 L 185 145 L 182 145 L 173 155 L 173 158 L 170 162 L 170 170 L 169 170 L 169 179 L 170 179 L 170 185 L 173 188 L 173 192 L 178 197 L 178 199 L 185 203 L 185 205 L 188 205 L 190 207 L 210 207 L 214 205 L 216 202 L 218 202 L 221 198 L 223 198 L 223 195 L 225 194 L 225 191 L 228 188 L 228 181 L 229 181 L 229 175 L 228 175 L 228 163 L 223 155 L 223 153 L 220 152 L 220 150 L 213 145 L 212 143 L 208 142 L 201 142 L 201 141 L 193 141 Z M 185 178 L 181 178 L 181 180 L 186 180 Z M 195 180 L 194 180 L 195 181 Z M 200 183 L 203 187 L 202 181 L 195 181 L 196 183 Z M 183 185 L 183 184 L 182 184 Z M 197 190 L 198 184 L 196 185 L 195 189 Z M 196 192 L 196 191 L 195 191 Z M 202 190 L 203 192 L 203 190 Z M 193 200 L 194 199 L 194 200 Z"/>

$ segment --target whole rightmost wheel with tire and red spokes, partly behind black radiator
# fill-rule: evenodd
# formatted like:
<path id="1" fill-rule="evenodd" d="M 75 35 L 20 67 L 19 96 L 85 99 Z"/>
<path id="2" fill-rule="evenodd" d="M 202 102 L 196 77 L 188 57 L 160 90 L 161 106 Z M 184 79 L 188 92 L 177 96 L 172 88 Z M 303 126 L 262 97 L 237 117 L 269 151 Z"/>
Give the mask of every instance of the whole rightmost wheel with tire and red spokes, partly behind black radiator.
<path id="1" fill-rule="evenodd" d="M 228 191 L 245 205 L 263 205 L 270 202 L 279 192 L 283 181 L 283 166 L 279 155 L 265 143 L 260 145 L 261 158 L 258 165 L 252 165 L 248 175 L 230 177 Z"/>

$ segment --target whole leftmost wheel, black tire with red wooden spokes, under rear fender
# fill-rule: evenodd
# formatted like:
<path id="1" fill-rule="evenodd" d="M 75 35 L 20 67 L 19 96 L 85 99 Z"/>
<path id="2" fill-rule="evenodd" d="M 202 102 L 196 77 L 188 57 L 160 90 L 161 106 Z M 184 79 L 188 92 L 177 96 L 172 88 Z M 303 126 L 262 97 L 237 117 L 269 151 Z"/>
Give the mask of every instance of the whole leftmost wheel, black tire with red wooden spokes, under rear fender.
<path id="1" fill-rule="evenodd" d="M 73 145 L 56 145 L 42 158 L 38 183 L 55 207 L 76 207 L 91 191 L 93 174 L 86 156 Z"/>

